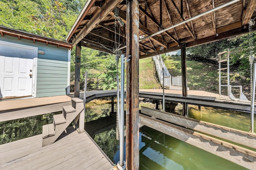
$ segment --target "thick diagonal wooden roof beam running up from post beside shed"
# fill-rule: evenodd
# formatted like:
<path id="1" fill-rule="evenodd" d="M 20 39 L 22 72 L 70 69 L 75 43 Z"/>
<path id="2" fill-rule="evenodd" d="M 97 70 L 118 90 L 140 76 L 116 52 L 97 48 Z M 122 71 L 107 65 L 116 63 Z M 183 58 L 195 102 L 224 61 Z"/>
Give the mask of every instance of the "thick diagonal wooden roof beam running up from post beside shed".
<path id="1" fill-rule="evenodd" d="M 75 39 L 72 40 L 72 46 L 81 41 L 98 23 L 100 23 L 106 16 L 114 10 L 114 8 L 120 4 L 122 0 L 106 0 L 102 7 L 97 10 L 91 20 L 84 26 L 84 28 L 78 33 Z"/>

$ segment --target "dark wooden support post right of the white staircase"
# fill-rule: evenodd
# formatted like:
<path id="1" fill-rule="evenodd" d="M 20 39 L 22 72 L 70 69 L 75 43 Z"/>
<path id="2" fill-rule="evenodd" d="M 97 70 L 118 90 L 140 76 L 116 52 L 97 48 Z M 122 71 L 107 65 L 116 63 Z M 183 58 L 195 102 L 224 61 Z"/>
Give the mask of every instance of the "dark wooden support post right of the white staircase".
<path id="1" fill-rule="evenodd" d="M 180 43 L 181 50 L 181 73 L 182 73 L 182 96 L 188 96 L 187 88 L 187 68 L 186 68 L 186 43 Z M 187 104 L 183 103 L 183 116 L 187 115 Z"/>

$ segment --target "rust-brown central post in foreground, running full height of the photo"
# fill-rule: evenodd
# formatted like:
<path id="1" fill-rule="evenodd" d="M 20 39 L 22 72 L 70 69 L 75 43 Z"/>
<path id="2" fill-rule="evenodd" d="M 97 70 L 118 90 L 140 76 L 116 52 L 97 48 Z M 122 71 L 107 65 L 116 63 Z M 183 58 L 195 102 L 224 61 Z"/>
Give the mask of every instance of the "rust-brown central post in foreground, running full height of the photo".
<path id="1" fill-rule="evenodd" d="M 139 169 L 139 1 L 127 0 L 126 169 Z"/>

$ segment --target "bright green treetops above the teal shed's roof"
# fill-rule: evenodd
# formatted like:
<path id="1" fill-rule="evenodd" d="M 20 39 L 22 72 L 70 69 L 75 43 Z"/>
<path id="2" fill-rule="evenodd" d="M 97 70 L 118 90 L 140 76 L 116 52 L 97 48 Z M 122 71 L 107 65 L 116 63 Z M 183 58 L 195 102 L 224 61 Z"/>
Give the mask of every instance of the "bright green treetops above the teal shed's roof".
<path id="1" fill-rule="evenodd" d="M 0 25 L 64 40 L 85 0 L 1 0 Z"/>

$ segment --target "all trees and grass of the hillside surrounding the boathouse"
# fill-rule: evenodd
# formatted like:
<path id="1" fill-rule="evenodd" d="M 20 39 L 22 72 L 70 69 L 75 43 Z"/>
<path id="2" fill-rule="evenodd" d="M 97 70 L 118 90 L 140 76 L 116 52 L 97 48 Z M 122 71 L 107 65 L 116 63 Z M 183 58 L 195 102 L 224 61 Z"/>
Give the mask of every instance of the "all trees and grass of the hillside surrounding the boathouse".
<path id="1" fill-rule="evenodd" d="M 65 40 L 86 0 L 0 0 L 0 25 Z M 242 85 L 250 96 L 250 49 L 256 45 L 256 33 L 216 41 L 188 49 L 188 87 L 191 90 L 218 91 L 216 59 L 218 53 L 230 49 L 230 80 Z M 255 55 L 256 51 L 251 55 Z M 116 61 L 114 55 L 82 48 L 80 89 L 88 72 L 88 90 L 116 88 Z M 71 52 L 70 89 L 74 90 L 75 47 Z M 213 62 L 212 62 L 213 61 Z M 215 61 L 215 62 L 214 62 Z M 181 75 L 180 57 L 166 57 L 166 66 L 172 76 Z M 119 70 L 120 74 L 120 65 Z M 98 80 L 98 81 L 97 81 Z M 98 84 L 98 86 L 97 86 Z M 158 78 L 151 58 L 140 60 L 140 88 L 158 88 Z"/>

